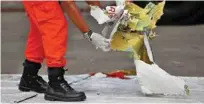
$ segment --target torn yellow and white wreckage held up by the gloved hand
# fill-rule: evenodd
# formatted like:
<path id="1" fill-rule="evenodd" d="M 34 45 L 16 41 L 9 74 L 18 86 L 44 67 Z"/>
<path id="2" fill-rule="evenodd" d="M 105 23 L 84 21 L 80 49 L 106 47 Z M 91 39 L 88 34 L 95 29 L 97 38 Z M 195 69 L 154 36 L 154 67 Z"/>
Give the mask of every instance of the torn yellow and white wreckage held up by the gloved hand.
<path id="1" fill-rule="evenodd" d="M 165 1 L 150 2 L 145 8 L 126 0 L 116 2 L 117 6 L 107 6 L 105 10 L 91 7 L 91 15 L 99 24 L 114 22 L 112 29 L 106 26 L 102 33 L 107 35 L 108 29 L 112 30 L 109 35 L 112 50 L 131 53 L 142 92 L 145 95 L 188 95 L 189 88 L 183 79 L 168 74 L 155 63 L 149 44 L 149 40 L 156 37 L 153 30 L 163 15 Z M 110 76 L 124 78 L 120 72 Z"/>

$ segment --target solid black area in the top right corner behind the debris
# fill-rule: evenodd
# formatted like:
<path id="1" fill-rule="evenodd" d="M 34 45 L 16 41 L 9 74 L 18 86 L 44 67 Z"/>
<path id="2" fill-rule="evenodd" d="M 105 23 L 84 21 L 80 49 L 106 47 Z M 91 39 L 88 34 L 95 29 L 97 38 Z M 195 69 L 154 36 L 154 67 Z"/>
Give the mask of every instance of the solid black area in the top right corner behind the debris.
<path id="1" fill-rule="evenodd" d="M 158 0 L 159 1 L 159 0 Z M 153 1 L 154 3 L 159 3 Z M 144 7 L 149 1 L 134 1 Z M 204 1 L 166 1 L 159 25 L 194 25 L 204 23 Z"/>

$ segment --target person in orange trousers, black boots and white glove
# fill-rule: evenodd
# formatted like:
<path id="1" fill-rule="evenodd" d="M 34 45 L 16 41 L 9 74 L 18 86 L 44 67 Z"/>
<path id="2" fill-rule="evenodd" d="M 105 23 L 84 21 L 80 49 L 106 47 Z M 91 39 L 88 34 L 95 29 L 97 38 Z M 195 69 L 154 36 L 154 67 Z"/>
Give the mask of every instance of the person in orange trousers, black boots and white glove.
<path id="1" fill-rule="evenodd" d="M 87 3 L 102 7 L 98 1 Z M 85 100 L 85 93 L 75 91 L 64 79 L 68 23 L 63 10 L 96 47 L 109 51 L 109 40 L 89 29 L 74 1 L 61 1 L 61 6 L 58 1 L 23 1 L 23 5 L 30 22 L 30 32 L 19 90 L 45 93 L 45 100 L 51 101 Z M 48 67 L 48 83 L 38 75 L 44 60 Z"/>

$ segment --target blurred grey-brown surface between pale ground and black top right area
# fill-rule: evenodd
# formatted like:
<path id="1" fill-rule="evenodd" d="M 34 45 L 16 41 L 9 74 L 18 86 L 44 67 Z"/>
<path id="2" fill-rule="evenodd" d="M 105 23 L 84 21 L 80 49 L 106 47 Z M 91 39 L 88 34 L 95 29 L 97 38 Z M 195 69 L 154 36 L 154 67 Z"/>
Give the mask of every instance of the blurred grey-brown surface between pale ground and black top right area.
<path id="1" fill-rule="evenodd" d="M 100 32 L 92 17 L 83 14 L 92 30 Z M 68 19 L 68 18 L 67 18 Z M 82 37 L 79 30 L 69 22 L 69 42 L 66 58 L 68 74 L 88 72 L 109 72 L 116 69 L 134 69 L 127 53 L 102 52 Z M 158 27 L 159 35 L 152 41 L 153 52 L 158 65 L 172 75 L 204 76 L 204 25 Z M 29 23 L 24 13 L 1 14 L 1 72 L 13 74 L 22 72 L 24 49 Z M 46 74 L 46 67 L 41 70 Z"/>

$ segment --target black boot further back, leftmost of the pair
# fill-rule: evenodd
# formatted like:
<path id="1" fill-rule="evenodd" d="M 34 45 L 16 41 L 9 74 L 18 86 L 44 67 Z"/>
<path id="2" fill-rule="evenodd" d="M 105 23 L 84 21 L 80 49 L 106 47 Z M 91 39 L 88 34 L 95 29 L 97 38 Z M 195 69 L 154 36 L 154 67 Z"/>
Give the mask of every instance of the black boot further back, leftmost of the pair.
<path id="1" fill-rule="evenodd" d="M 23 63 L 24 70 L 23 75 L 18 86 L 20 91 L 35 91 L 38 93 L 45 93 L 48 87 L 46 81 L 38 76 L 38 71 L 41 68 L 41 64 L 30 62 L 25 60 Z"/>

